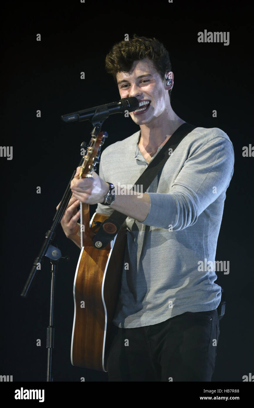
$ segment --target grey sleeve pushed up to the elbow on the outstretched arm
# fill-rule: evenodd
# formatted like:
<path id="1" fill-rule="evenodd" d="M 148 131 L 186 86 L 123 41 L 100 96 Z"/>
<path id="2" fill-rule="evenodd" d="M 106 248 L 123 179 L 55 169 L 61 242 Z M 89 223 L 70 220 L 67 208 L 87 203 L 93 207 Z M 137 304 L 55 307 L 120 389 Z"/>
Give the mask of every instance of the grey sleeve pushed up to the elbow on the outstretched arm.
<path id="1" fill-rule="evenodd" d="M 168 159 L 170 160 L 170 158 Z M 227 190 L 234 171 L 234 150 L 225 137 L 215 137 L 188 157 L 169 193 L 148 193 L 150 211 L 142 224 L 183 230 Z"/>

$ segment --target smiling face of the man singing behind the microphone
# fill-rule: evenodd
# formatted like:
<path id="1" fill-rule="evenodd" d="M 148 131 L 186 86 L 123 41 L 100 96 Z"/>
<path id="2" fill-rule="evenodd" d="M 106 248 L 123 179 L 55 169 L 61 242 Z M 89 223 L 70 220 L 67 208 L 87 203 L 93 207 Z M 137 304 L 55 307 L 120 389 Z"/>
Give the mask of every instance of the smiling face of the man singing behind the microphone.
<path id="1" fill-rule="evenodd" d="M 134 96 L 139 102 L 144 102 L 139 107 L 143 110 L 130 113 L 136 124 L 155 121 L 157 123 L 157 118 L 162 118 L 162 114 L 166 113 L 169 100 L 168 89 L 165 89 L 161 75 L 149 58 L 135 61 L 132 69 L 127 73 L 118 72 L 117 84 L 121 98 Z"/>

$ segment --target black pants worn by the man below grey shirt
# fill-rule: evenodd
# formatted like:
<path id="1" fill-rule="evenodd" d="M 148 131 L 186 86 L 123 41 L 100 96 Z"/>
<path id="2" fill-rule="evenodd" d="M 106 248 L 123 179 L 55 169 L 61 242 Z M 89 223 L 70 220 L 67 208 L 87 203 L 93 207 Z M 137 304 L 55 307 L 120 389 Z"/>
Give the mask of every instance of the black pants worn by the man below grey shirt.
<path id="1" fill-rule="evenodd" d="M 151 326 L 111 327 L 109 381 L 211 381 L 220 334 L 216 309 Z"/>

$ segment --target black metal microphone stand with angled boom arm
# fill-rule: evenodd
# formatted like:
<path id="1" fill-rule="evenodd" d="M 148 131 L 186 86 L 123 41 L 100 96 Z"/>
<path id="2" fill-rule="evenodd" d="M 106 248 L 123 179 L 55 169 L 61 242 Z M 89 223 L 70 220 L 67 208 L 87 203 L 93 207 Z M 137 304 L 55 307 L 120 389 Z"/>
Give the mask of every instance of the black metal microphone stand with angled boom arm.
<path id="1" fill-rule="evenodd" d="M 109 116 L 109 111 L 105 110 L 104 106 L 100 106 L 98 107 L 98 109 L 96 109 L 95 114 L 93 115 L 93 118 L 91 118 L 90 120 L 91 124 L 93 125 L 93 130 L 90 133 L 92 137 L 98 136 L 98 133 L 101 131 L 102 124 L 104 120 L 108 118 L 108 116 Z M 106 132 L 104 133 L 105 133 L 105 137 L 107 137 L 108 134 Z M 86 142 L 82 142 L 81 147 L 85 148 L 86 146 L 87 146 Z M 81 165 L 82 160 L 83 159 L 81 159 L 79 166 Z M 55 238 L 55 231 L 58 225 L 60 224 L 62 217 L 64 215 L 64 212 L 66 210 L 66 207 L 68 205 L 68 202 L 71 199 L 72 192 L 70 190 L 70 185 L 71 185 L 71 180 L 73 179 L 75 173 L 76 173 L 76 170 L 74 170 L 73 175 L 71 176 L 71 179 L 62 197 L 60 206 L 58 207 L 57 212 L 55 213 L 55 216 L 53 218 L 53 224 L 51 225 L 51 228 L 46 232 L 45 239 L 40 248 L 39 254 L 33 262 L 33 266 L 31 268 L 27 282 L 22 290 L 22 293 L 20 294 L 23 298 L 27 297 L 29 291 L 31 290 L 32 285 L 34 284 L 35 277 L 37 276 L 38 271 L 41 269 L 41 265 L 44 262 L 44 258 L 45 257 L 49 258 L 51 262 L 51 272 L 52 272 L 49 326 L 47 327 L 47 341 L 46 341 L 46 348 L 48 349 L 46 381 L 49 381 L 49 382 L 53 381 L 52 352 L 54 348 L 54 337 L 55 337 L 55 327 L 53 326 L 53 317 L 54 317 L 54 295 L 55 295 L 56 273 L 58 270 L 59 259 L 65 259 L 66 261 L 70 259 L 68 256 L 63 257 L 60 249 L 57 248 L 57 246 L 51 245 L 51 242 L 53 242 L 53 239 Z"/>

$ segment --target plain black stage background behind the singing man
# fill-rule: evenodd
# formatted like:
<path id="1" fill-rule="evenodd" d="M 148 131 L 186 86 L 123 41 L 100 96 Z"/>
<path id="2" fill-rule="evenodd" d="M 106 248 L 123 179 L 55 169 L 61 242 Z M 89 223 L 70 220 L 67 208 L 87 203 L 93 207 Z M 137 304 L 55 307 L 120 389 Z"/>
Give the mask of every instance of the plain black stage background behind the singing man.
<path id="1" fill-rule="evenodd" d="M 247 4 L 247 3 L 246 3 Z M 213 381 L 242 381 L 253 365 L 253 144 L 250 10 L 232 2 L 9 2 L 2 14 L 1 145 L 13 146 L 2 164 L 1 375 L 13 381 L 45 381 L 49 324 L 50 264 L 43 264 L 27 299 L 20 297 L 66 185 L 80 161 L 80 143 L 90 140 L 89 122 L 65 124 L 60 116 L 119 100 L 105 72 L 110 48 L 128 33 L 155 37 L 168 49 L 174 72 L 172 108 L 196 126 L 223 129 L 234 146 L 234 175 L 227 190 L 217 260 L 226 312 L 220 322 Z M 199 31 L 229 31 L 230 44 L 199 43 Z M 41 41 L 36 41 L 36 34 Z M 85 80 L 80 72 L 85 72 Z M 36 117 L 40 109 L 41 118 Z M 212 111 L 217 111 L 217 118 Z M 103 130 L 104 147 L 139 128 L 113 115 Z M 36 187 L 41 187 L 41 194 Z M 91 213 L 94 212 L 91 207 Z M 54 381 L 108 381 L 107 373 L 71 365 L 73 279 L 79 249 L 62 228 L 55 295 Z M 36 346 L 41 339 L 41 347 Z"/>

